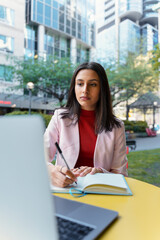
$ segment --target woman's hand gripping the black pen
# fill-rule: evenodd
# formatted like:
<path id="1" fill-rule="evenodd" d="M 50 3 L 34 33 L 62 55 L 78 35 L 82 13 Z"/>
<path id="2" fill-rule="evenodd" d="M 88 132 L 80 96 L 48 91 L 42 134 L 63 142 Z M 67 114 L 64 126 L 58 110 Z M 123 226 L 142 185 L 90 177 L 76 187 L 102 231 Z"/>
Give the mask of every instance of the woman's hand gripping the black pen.
<path id="1" fill-rule="evenodd" d="M 68 168 L 65 166 L 60 166 L 60 165 L 54 166 L 53 164 L 50 164 L 48 168 L 49 168 L 51 183 L 54 186 L 64 188 L 67 185 L 77 181 L 78 174 L 74 174 L 73 172 L 68 170 Z"/>

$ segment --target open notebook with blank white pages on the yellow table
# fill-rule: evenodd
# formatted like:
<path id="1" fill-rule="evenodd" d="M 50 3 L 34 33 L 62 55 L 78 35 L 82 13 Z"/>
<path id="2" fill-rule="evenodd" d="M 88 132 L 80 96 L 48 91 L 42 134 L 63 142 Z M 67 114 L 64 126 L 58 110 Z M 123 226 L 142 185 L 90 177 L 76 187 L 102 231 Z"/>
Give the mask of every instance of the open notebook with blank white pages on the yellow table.
<path id="1" fill-rule="evenodd" d="M 71 189 L 71 190 L 70 190 Z M 132 195 L 132 192 L 122 174 L 96 173 L 78 177 L 77 184 L 65 188 L 51 185 L 52 192 L 58 193 L 95 193 L 112 195 Z"/>

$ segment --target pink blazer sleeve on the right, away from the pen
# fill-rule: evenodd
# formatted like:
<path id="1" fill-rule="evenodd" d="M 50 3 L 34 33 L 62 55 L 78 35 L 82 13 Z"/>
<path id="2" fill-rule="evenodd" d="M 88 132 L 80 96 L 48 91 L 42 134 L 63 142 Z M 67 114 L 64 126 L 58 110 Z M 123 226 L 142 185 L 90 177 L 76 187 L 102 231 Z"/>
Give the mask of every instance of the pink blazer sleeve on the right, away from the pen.
<path id="1" fill-rule="evenodd" d="M 122 126 L 116 128 L 115 131 L 114 153 L 110 172 L 128 176 L 127 162 L 125 129 L 122 123 Z"/>

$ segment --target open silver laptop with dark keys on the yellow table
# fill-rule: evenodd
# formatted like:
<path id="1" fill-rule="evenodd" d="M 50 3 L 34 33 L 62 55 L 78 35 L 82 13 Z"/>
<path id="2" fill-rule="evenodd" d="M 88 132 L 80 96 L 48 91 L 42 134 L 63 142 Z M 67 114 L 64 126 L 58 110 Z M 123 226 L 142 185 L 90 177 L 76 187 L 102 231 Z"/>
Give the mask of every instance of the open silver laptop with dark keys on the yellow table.
<path id="1" fill-rule="evenodd" d="M 0 239 L 95 239 L 118 213 L 51 194 L 44 130 L 36 115 L 0 117 Z"/>

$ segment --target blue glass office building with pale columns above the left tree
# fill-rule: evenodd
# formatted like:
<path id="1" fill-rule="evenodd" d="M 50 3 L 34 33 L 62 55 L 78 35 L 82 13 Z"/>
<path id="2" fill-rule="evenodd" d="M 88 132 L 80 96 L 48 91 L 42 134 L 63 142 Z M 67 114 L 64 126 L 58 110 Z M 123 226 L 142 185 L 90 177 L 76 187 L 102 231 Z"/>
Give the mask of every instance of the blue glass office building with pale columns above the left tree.
<path id="1" fill-rule="evenodd" d="M 26 56 L 56 54 L 82 62 L 94 47 L 94 0 L 26 0 Z"/>

